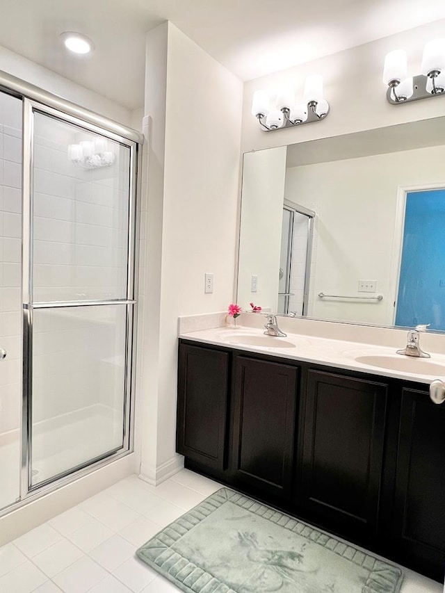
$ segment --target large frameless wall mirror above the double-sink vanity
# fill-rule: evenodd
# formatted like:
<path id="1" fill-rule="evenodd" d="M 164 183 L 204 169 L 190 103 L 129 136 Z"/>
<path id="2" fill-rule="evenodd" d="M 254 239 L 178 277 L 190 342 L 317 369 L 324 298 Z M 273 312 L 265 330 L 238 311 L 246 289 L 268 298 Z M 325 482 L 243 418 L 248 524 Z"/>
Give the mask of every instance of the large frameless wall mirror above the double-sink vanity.
<path id="1" fill-rule="evenodd" d="M 445 117 L 246 153 L 238 303 L 445 330 Z"/>

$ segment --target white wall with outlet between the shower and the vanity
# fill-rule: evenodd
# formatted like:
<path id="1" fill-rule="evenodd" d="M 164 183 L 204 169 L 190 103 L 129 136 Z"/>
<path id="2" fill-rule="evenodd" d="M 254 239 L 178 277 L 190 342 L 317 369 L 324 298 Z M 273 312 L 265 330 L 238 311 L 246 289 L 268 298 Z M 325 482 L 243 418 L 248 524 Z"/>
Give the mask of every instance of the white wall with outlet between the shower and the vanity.
<path id="1" fill-rule="evenodd" d="M 150 52 L 164 51 L 166 56 L 165 67 L 147 72 L 152 101 L 146 103 L 146 109 L 152 111 L 145 112 L 152 120 L 149 146 L 158 149 L 153 156 L 159 159 L 157 174 L 164 170 L 162 188 L 159 177 L 153 180 L 163 202 L 162 209 L 160 202 L 155 202 L 151 212 L 151 224 L 160 230 L 147 243 L 154 275 L 146 281 L 144 305 L 147 351 L 159 348 L 159 364 L 157 368 L 147 364 L 150 373 L 145 373 L 141 419 L 145 428 L 141 431 L 142 473 L 156 480 L 178 464 L 177 318 L 227 309 L 233 298 L 242 84 L 172 24 L 161 25 L 148 39 L 149 59 Z M 165 111 L 162 101 L 156 101 L 162 88 Z M 151 185 L 152 178 L 149 181 Z M 153 186 L 149 186 L 148 195 L 149 200 L 155 200 Z M 155 258 L 159 240 L 161 252 Z M 214 274 L 213 294 L 204 294 L 206 272 Z M 149 327 L 153 327 L 152 339 Z M 147 434 L 154 430 L 155 460 L 153 434 Z"/>

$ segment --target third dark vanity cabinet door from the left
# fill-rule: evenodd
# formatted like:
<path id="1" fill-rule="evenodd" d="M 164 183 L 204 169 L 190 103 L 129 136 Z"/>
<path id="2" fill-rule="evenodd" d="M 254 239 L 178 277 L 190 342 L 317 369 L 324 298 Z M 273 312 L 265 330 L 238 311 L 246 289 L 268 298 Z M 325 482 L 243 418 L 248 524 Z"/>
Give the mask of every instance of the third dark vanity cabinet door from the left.
<path id="1" fill-rule="evenodd" d="M 359 540 L 377 528 L 386 400 L 386 384 L 307 373 L 296 502 Z"/>

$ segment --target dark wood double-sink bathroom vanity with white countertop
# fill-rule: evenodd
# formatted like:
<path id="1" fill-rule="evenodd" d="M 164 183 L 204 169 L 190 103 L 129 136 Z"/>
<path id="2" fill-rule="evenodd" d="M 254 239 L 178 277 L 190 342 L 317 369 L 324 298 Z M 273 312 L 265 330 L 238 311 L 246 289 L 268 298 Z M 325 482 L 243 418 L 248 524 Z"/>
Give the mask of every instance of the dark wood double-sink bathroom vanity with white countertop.
<path id="1" fill-rule="evenodd" d="M 428 394 L 442 359 L 428 377 L 366 368 L 364 344 L 342 343 L 339 365 L 334 340 L 232 334 L 179 340 L 186 467 L 443 581 L 445 405 Z"/>

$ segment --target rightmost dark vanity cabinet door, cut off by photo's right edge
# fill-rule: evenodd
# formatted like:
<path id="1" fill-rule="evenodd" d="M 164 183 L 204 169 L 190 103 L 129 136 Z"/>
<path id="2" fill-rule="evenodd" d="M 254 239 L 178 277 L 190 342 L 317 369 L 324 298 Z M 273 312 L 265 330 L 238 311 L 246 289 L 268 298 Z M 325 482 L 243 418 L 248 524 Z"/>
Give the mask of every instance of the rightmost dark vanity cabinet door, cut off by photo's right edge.
<path id="1" fill-rule="evenodd" d="M 401 561 L 442 580 L 445 567 L 445 405 L 403 389 L 392 541 Z"/>

